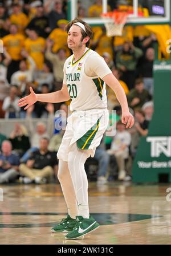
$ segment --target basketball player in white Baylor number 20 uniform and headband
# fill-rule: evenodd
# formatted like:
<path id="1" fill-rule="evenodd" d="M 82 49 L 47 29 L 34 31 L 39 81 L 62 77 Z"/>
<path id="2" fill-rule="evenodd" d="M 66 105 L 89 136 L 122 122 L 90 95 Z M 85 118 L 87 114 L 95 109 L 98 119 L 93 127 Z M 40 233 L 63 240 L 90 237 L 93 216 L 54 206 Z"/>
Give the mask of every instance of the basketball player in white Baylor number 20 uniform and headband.
<path id="1" fill-rule="evenodd" d="M 67 233 L 66 239 L 77 239 L 99 227 L 89 216 L 88 181 L 84 163 L 93 157 L 108 126 L 105 84 L 115 92 L 122 108 L 122 122 L 131 128 L 134 119 L 129 112 L 123 88 L 113 76 L 104 59 L 87 48 L 92 38 L 91 27 L 75 18 L 66 26 L 68 47 L 72 50 L 64 64 L 62 90 L 50 94 L 35 94 L 19 100 L 19 106 L 29 108 L 36 101 L 57 103 L 71 98 L 72 115 L 59 147 L 58 178 L 68 208 L 68 215 L 52 228 L 53 233 Z"/>

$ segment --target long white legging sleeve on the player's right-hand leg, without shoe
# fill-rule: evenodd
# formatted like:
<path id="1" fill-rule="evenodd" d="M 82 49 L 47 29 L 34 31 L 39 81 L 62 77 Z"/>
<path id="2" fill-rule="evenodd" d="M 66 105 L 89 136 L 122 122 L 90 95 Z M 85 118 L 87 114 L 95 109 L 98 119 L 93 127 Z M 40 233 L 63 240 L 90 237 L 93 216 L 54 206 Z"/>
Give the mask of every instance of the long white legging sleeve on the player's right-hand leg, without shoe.
<path id="1" fill-rule="evenodd" d="M 72 146 L 68 153 L 68 168 L 78 202 L 78 216 L 83 216 L 83 218 L 89 218 L 88 180 L 84 169 L 84 164 L 88 157 L 88 151 L 78 149 L 76 144 Z"/>

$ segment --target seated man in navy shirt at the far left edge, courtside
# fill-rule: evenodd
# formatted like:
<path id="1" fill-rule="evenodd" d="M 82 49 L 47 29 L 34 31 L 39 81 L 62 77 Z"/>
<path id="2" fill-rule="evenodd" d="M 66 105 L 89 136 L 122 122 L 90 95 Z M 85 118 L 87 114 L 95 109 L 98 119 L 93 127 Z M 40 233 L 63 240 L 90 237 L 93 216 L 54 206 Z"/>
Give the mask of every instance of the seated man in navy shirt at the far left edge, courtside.
<path id="1" fill-rule="evenodd" d="M 18 176 L 19 157 L 13 154 L 9 140 L 2 143 L 0 154 L 0 184 L 15 181 Z"/>

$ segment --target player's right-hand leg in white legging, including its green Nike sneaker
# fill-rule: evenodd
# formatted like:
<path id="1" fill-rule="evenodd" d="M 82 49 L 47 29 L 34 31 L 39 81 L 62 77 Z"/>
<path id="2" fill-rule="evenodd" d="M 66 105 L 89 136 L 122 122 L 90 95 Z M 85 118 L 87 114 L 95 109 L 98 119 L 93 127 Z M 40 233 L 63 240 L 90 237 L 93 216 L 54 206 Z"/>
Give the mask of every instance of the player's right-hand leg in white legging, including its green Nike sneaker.
<path id="1" fill-rule="evenodd" d="M 89 157 L 89 151 L 78 149 L 76 143 L 68 153 L 68 167 L 74 184 L 76 200 L 78 202 L 78 221 L 74 230 L 66 235 L 67 239 L 76 239 L 90 233 L 99 227 L 99 224 L 89 216 L 88 180 L 84 164 Z"/>

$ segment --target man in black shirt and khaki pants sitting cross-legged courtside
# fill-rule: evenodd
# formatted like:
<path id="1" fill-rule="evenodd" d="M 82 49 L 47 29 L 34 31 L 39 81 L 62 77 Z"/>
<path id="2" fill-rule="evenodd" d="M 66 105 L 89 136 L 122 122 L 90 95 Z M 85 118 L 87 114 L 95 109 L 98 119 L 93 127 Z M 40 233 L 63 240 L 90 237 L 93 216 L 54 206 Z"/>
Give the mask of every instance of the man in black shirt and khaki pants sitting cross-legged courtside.
<path id="1" fill-rule="evenodd" d="M 48 151 L 49 140 L 40 139 L 40 148 L 32 153 L 26 164 L 19 165 L 19 171 L 24 176 L 23 182 L 36 184 L 46 183 L 58 170 L 56 153 Z"/>

